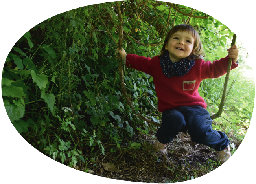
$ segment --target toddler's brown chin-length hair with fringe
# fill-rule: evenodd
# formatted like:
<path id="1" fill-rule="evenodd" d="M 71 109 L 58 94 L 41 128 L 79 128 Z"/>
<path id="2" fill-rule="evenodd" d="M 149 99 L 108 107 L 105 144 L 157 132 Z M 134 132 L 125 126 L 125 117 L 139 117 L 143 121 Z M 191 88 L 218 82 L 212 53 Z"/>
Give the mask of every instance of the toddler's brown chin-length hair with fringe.
<path id="1" fill-rule="evenodd" d="M 161 49 L 161 53 L 159 54 L 159 57 L 162 56 L 164 54 L 164 52 L 166 51 L 165 46 L 166 46 L 166 44 L 168 44 L 168 41 L 171 38 L 171 36 L 173 36 L 173 34 L 178 31 L 180 31 L 180 32 L 188 31 L 192 34 L 193 38 L 195 39 L 194 47 L 193 47 L 191 54 L 188 56 L 188 60 L 202 58 L 202 56 L 204 56 L 204 50 L 203 50 L 203 45 L 201 43 L 199 34 L 195 30 L 195 28 L 193 28 L 191 25 L 188 25 L 188 24 L 175 25 L 174 27 L 172 27 L 170 29 L 170 31 L 167 33 L 167 35 L 165 37 L 164 44 Z"/>

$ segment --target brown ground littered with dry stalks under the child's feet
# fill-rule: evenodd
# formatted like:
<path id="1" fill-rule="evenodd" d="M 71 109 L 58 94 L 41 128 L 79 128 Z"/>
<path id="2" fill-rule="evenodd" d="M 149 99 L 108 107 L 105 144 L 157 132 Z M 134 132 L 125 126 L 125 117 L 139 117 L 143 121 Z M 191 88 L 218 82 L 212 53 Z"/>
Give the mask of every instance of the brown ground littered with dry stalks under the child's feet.
<path id="1" fill-rule="evenodd" d="M 95 162 L 87 165 L 89 173 L 131 182 L 169 183 L 201 177 L 219 167 L 215 162 L 215 151 L 192 142 L 188 133 L 180 133 L 168 143 L 166 154 L 154 150 L 154 135 L 140 133 L 133 139 L 133 142 L 139 140 L 142 148 L 135 150 L 126 146 L 111 152 L 114 145 L 107 144 L 105 155 L 98 156 Z M 235 144 L 237 149 L 241 141 Z M 83 167 L 77 164 L 76 169 L 84 170 Z"/>

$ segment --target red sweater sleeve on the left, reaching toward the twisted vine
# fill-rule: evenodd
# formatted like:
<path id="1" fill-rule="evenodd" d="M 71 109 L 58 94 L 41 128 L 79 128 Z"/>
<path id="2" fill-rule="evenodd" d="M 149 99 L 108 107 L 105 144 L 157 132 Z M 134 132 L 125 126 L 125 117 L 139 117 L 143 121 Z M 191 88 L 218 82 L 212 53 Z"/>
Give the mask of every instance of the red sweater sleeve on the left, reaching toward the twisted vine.
<path id="1" fill-rule="evenodd" d="M 125 65 L 135 70 L 139 70 L 145 72 L 146 74 L 152 75 L 153 61 L 151 58 L 138 56 L 136 54 L 127 54 L 125 58 Z"/>

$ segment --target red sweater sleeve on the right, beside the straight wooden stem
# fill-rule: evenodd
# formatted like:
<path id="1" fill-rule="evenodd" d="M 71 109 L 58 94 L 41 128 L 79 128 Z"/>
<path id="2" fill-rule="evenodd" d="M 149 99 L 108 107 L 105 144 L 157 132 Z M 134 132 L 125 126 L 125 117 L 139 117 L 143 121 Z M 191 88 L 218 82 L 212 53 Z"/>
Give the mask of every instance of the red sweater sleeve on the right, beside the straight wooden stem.
<path id="1" fill-rule="evenodd" d="M 229 58 L 221 58 L 213 62 L 203 61 L 201 64 L 201 79 L 218 78 L 227 73 Z M 238 64 L 232 61 L 231 70 L 238 67 Z"/>

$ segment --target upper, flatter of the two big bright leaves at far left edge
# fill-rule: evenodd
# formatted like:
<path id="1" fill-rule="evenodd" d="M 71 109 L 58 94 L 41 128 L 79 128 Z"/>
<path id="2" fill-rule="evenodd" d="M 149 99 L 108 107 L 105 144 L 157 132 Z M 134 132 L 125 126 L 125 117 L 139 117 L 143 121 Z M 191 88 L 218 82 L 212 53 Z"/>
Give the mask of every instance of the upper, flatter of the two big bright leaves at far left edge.
<path id="1" fill-rule="evenodd" d="M 17 87 L 17 86 L 6 86 L 6 85 L 2 85 L 2 95 L 3 96 L 7 96 L 7 97 L 17 97 L 20 98 L 22 96 L 26 96 L 26 94 L 24 94 L 23 92 L 23 88 L 21 87 Z"/>

